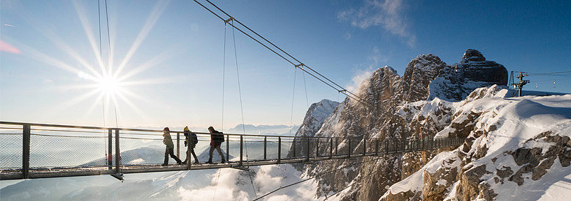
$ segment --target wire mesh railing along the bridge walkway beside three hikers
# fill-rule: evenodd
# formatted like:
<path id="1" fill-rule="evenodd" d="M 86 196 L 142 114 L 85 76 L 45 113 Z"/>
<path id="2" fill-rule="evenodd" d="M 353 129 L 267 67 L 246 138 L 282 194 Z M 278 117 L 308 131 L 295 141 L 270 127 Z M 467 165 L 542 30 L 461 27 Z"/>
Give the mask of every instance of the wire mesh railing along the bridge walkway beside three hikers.
<path id="1" fill-rule="evenodd" d="M 162 130 L 0 122 L 0 131 L 0 176 L 3 179 L 296 163 L 433 150 L 463 143 L 463 140 L 457 138 L 381 139 L 223 134 L 224 142 L 220 144 L 220 150 L 226 163 L 217 163 L 223 160 L 217 150 L 213 150 L 212 154 L 209 152 L 211 134 L 195 132 L 198 143 L 194 152 L 202 164 L 191 168 L 191 163 L 196 161 L 194 157 L 187 157 L 189 147 L 185 146 L 186 137 L 182 131 L 170 131 L 168 135 L 173 142 L 173 154 L 180 161 L 187 161 L 185 165 L 177 164 L 178 161 L 166 152 L 168 150 Z M 164 164 L 165 157 L 167 164 Z M 211 157 L 215 164 L 205 165 Z M 46 173 L 54 171 L 59 172 L 52 175 Z M 89 171 L 92 173 L 85 173 Z"/>

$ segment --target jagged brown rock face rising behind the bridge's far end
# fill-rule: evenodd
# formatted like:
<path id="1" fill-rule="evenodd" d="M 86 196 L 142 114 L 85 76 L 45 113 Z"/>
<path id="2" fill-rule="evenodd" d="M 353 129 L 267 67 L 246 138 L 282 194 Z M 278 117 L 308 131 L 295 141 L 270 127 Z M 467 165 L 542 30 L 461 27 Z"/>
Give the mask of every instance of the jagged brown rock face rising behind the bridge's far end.
<path id="1" fill-rule="evenodd" d="M 493 67 L 493 62 L 485 61 L 477 52 L 466 51 L 461 69 L 465 73 L 458 74 L 454 67 L 446 65 L 433 54 L 424 54 L 414 58 L 406 67 L 405 74 L 400 77 L 393 68 L 379 68 L 373 75 L 364 80 L 356 95 L 372 105 L 363 105 L 346 98 L 335 108 L 335 111 L 324 120 L 321 129 L 315 136 L 332 136 L 340 138 L 432 138 L 444 129 L 454 115 L 455 108 L 446 100 L 460 100 L 468 96 L 466 91 L 475 90 L 477 86 L 492 85 L 496 74 L 488 75 L 484 68 L 507 71 L 503 66 Z M 473 64 L 473 66 L 472 66 Z M 497 65 L 497 64 L 496 64 Z M 462 70 L 461 70 L 462 71 Z M 467 75 L 472 77 L 465 77 Z M 439 79 L 447 85 L 435 85 Z M 478 83 L 466 84 L 466 83 Z M 461 91 L 448 92 L 450 88 L 461 87 Z M 438 93 L 433 90 L 438 89 Z M 431 98 L 429 99 L 429 94 Z M 304 121 L 305 122 L 305 121 Z M 303 125 L 302 125 L 303 127 Z M 310 142 L 312 143 L 312 142 Z M 338 152 L 362 153 L 362 140 L 339 142 Z M 297 142 L 296 147 L 305 147 Z M 317 147 L 317 146 L 310 146 Z M 367 145 L 367 147 L 373 147 Z M 328 152 L 328 146 L 320 146 L 319 150 L 311 150 L 312 155 Z M 291 153 L 290 153 L 291 154 Z M 382 158 L 363 157 L 352 160 L 322 161 L 317 165 L 301 165 L 301 170 L 309 176 L 321 172 L 335 170 L 338 167 L 352 166 L 343 171 L 320 176 L 317 179 L 319 189 L 317 196 L 337 193 L 340 200 L 379 200 L 386 189 L 404 177 L 416 172 L 435 153 L 387 155 Z M 443 170 L 444 171 L 444 170 Z M 452 171 L 447 170 L 448 172 Z M 456 168 L 455 171 L 459 171 Z M 373 173 L 375 172 L 375 173 Z M 446 171 L 444 171 L 446 172 Z M 444 173 L 437 173 L 443 175 Z M 444 177 L 444 176 L 442 176 Z M 448 177 L 446 177 L 448 178 Z M 438 182 L 439 180 L 435 180 Z M 342 191 L 338 193 L 339 191 Z M 401 198 L 416 198 L 419 192 L 403 193 Z"/>

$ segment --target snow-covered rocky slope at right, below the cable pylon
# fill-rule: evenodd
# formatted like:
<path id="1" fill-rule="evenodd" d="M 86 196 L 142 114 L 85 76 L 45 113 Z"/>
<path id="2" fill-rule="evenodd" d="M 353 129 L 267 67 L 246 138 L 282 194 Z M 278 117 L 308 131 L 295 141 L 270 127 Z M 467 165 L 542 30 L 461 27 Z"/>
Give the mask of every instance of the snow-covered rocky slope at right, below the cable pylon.
<path id="1" fill-rule="evenodd" d="M 435 137 L 467 137 L 393 184 L 380 200 L 567 200 L 571 95 L 505 97 L 480 88 Z M 467 136 L 466 136 L 467 135 Z"/>

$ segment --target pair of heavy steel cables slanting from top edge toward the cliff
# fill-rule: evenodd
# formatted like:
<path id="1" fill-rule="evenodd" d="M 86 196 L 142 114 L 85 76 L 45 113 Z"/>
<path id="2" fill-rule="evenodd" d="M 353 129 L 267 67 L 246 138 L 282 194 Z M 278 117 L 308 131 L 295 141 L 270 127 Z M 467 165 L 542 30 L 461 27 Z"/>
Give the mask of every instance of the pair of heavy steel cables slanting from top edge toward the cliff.
<path id="1" fill-rule="evenodd" d="M 236 20 L 234 17 L 231 17 L 231 16 L 228 15 L 226 12 L 224 12 L 224 10 L 222 10 L 222 9 L 219 9 L 219 8 L 218 8 L 218 9 L 221 10 L 224 14 L 228 15 L 228 16 L 230 17 L 229 19 L 224 19 L 224 18 L 220 17 L 220 15 L 216 14 L 214 11 L 210 10 L 210 8 L 207 8 L 206 6 L 204 6 L 202 3 L 200 3 L 200 2 L 198 2 L 198 1 L 196 1 L 196 0 L 193 0 L 193 1 L 196 2 L 196 3 L 198 3 L 198 5 L 202 6 L 203 8 L 205 8 L 206 10 L 208 10 L 210 13 L 212 13 L 212 15 L 215 15 L 216 17 L 218 17 L 219 19 L 221 19 L 221 20 L 224 21 L 224 22 L 228 22 L 229 20 Z M 211 3 L 210 1 L 208 1 L 208 2 Z M 214 3 L 211 3 L 211 4 L 214 5 Z M 215 6 L 215 7 L 217 7 L 217 6 Z M 238 21 L 236 21 L 236 22 L 238 22 Z M 240 23 L 240 22 L 238 22 L 238 24 L 244 26 L 244 25 L 243 25 L 242 23 Z M 303 63 L 297 61 L 297 59 L 294 58 L 294 60 L 295 60 L 296 62 L 299 62 L 299 63 L 300 63 L 299 65 L 296 65 L 296 63 L 294 63 L 293 61 L 289 60 L 288 58 L 286 58 L 286 57 L 283 56 L 282 54 L 278 53 L 278 52 L 275 51 L 274 49 L 271 49 L 270 47 L 268 47 L 268 45 L 265 45 L 265 44 L 263 44 L 263 42 L 261 42 L 260 40 L 257 40 L 256 38 L 252 37 L 252 35 L 250 35 L 250 34 L 248 34 L 248 33 L 245 33 L 245 31 L 243 31 L 242 29 L 239 29 L 238 27 L 234 26 L 233 24 L 231 24 L 231 26 L 233 26 L 233 27 L 234 27 L 235 29 L 237 29 L 238 31 L 242 32 L 244 35 L 247 35 L 249 38 L 251 38 L 251 39 L 254 40 L 255 42 L 258 42 L 258 43 L 259 43 L 260 45 L 262 45 L 263 47 L 266 47 L 266 49 L 272 51 L 272 52 L 273 52 L 274 54 L 276 54 L 277 56 L 280 56 L 281 58 L 283 58 L 283 59 L 284 59 L 285 61 L 287 61 L 288 63 L 291 63 L 291 65 L 294 65 L 295 67 L 299 67 L 299 66 L 301 66 L 301 65 L 303 65 L 303 66 L 305 66 L 305 67 L 308 67 L 307 65 L 304 65 Z M 247 26 L 245 26 L 245 27 L 247 28 Z M 247 28 L 247 29 L 249 29 L 249 28 Z M 250 30 L 251 30 L 251 29 L 250 29 Z M 254 31 L 252 31 L 252 32 L 254 32 Z M 254 32 L 254 33 L 255 33 L 255 32 Z M 259 34 L 257 34 L 257 33 L 255 33 L 255 34 L 256 34 L 256 35 L 259 35 Z M 261 37 L 261 35 L 260 35 L 260 37 Z M 261 37 L 261 38 L 263 38 L 263 37 Z M 265 40 L 265 38 L 263 38 L 263 39 Z M 266 40 L 266 41 L 269 42 L 269 40 Z M 271 43 L 271 42 L 269 42 L 269 43 L 273 45 L 273 43 Z M 273 45 L 273 46 L 275 46 L 275 45 Z M 277 47 L 277 46 L 275 46 L 275 47 Z M 280 48 L 277 47 L 277 49 L 280 49 Z M 283 51 L 283 50 L 281 50 L 281 51 Z M 284 52 L 285 52 L 285 51 L 284 51 Z M 285 54 L 287 54 L 287 52 L 285 52 Z M 287 55 L 289 55 L 289 54 L 287 54 Z M 290 56 L 290 57 L 291 57 L 291 56 Z M 293 58 L 293 57 L 291 57 L 291 58 Z M 337 83 L 331 81 L 331 79 L 328 79 L 327 77 L 324 77 L 322 74 L 320 74 L 319 72 L 313 70 L 311 67 L 308 67 L 308 69 L 310 69 L 312 72 L 315 72 L 315 74 L 319 75 L 319 77 L 318 77 L 317 75 L 315 75 L 315 74 L 312 74 L 311 72 L 308 72 L 308 71 L 305 70 L 304 68 L 300 68 L 300 69 L 303 70 L 303 72 L 307 72 L 307 73 L 310 74 L 312 77 L 314 77 L 315 79 L 321 81 L 322 83 L 325 83 L 327 86 L 329 86 L 329 87 L 331 87 L 331 88 L 337 90 L 339 93 L 343 93 L 343 94 L 346 95 L 347 97 L 349 97 L 349 98 L 351 98 L 351 99 L 354 99 L 356 102 L 360 102 L 361 104 L 364 104 L 364 105 L 366 105 L 366 106 L 373 106 L 373 104 L 370 104 L 370 103 L 366 102 L 364 99 L 362 99 L 361 97 L 354 95 L 354 93 L 351 93 L 351 92 L 348 91 L 347 89 L 345 89 L 345 88 L 339 86 Z M 320 77 L 321 77 L 321 78 L 320 78 Z M 324 79 L 326 79 L 328 82 L 327 82 L 327 81 L 324 81 Z M 332 83 L 333 83 L 333 85 L 335 85 L 336 87 L 333 86 Z"/>

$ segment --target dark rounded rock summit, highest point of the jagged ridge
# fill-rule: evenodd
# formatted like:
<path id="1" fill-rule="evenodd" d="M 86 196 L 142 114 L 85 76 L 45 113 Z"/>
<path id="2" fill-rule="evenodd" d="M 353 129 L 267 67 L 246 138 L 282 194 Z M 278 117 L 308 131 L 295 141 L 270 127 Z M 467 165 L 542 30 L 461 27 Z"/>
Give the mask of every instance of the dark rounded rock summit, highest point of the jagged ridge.
<path id="1" fill-rule="evenodd" d="M 461 101 L 475 88 L 507 84 L 507 70 L 503 65 L 486 58 L 475 49 L 465 51 L 460 63 L 444 67 L 431 82 L 430 97 Z"/>

